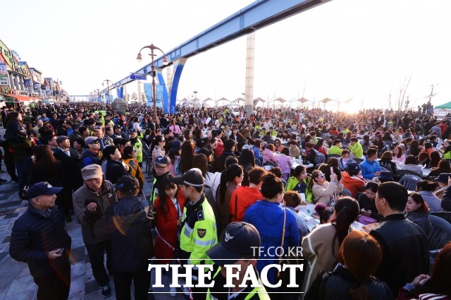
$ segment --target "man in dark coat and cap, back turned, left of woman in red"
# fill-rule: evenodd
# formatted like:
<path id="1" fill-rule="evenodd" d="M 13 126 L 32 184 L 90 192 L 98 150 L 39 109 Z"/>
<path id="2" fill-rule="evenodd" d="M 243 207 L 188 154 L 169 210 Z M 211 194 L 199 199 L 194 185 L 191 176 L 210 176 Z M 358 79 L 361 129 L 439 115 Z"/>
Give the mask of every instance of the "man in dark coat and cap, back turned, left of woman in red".
<path id="1" fill-rule="evenodd" d="M 113 249 L 113 280 L 117 299 L 130 299 L 133 281 L 135 299 L 147 299 L 150 287 L 149 259 L 154 256 L 149 203 L 137 193 L 140 183 L 128 174 L 116 182 L 118 202 L 106 209 Z"/>

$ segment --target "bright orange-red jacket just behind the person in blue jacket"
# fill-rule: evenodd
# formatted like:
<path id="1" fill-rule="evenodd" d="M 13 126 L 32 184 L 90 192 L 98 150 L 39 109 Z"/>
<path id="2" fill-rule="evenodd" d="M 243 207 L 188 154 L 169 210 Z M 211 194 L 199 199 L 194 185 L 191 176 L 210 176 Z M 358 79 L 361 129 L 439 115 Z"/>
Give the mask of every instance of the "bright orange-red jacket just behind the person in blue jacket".
<path id="1" fill-rule="evenodd" d="M 249 188 L 249 186 L 238 186 L 233 191 L 228 205 L 229 213 L 232 216 L 231 222 L 242 222 L 245 218 L 245 212 L 249 206 L 256 203 L 257 200 L 264 199 L 258 188 Z M 235 205 L 235 203 L 237 203 Z"/>

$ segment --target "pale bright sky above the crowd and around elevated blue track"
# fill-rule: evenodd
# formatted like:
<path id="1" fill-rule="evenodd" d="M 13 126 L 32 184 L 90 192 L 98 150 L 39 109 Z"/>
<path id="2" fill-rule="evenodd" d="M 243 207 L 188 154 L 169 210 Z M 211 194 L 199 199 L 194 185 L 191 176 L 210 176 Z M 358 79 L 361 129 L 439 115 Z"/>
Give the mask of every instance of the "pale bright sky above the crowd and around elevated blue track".
<path id="1" fill-rule="evenodd" d="M 15 0 L 3 5 L 0 40 L 69 95 L 89 95 L 150 59 L 151 43 L 170 50 L 218 23 L 249 0 Z M 340 109 L 386 107 L 405 78 L 406 95 L 422 104 L 451 101 L 451 3 L 445 0 L 333 0 L 256 33 L 254 98 L 306 97 Z M 246 38 L 188 59 L 178 99 L 234 100 L 245 92 Z M 137 83 L 128 85 L 131 94 Z M 310 104 L 311 106 L 311 104 Z M 323 104 L 321 104 L 321 107 Z M 336 104 L 326 104 L 336 109 Z"/>

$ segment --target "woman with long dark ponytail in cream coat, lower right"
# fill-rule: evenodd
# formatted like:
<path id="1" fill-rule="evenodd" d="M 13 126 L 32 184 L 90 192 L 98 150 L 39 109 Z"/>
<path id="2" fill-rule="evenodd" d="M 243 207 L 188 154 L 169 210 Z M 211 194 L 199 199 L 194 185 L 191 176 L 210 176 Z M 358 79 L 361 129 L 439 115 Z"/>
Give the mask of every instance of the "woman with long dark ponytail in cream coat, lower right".
<path id="1" fill-rule="evenodd" d="M 333 270 L 338 261 L 338 250 L 359 212 L 359 203 L 355 199 L 340 198 L 335 203 L 333 221 L 317 226 L 302 239 L 302 254 L 308 261 L 302 291 L 310 288 L 319 271 Z"/>

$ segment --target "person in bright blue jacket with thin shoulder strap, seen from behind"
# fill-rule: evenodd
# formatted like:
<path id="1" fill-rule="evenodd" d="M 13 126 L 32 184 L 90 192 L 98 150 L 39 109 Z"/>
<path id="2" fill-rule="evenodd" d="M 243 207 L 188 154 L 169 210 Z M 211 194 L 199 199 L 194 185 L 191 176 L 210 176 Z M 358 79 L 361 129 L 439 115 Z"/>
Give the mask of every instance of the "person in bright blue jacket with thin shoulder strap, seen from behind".
<path id="1" fill-rule="evenodd" d="M 264 260 L 257 261 L 257 270 L 261 272 L 266 265 L 277 263 L 278 256 L 270 247 L 280 247 L 284 238 L 284 253 L 288 253 L 288 247 L 299 246 L 299 231 L 295 216 L 280 206 L 283 200 L 283 182 L 274 174 L 265 174 L 262 177 L 261 194 L 263 200 L 247 208 L 244 221 L 254 225 L 261 237 L 260 251 L 266 254 Z M 285 216 L 285 228 L 283 228 Z M 285 235 L 283 236 L 283 232 Z M 268 282 L 276 283 L 276 270 L 268 271 Z M 272 292 L 272 291 L 271 291 Z M 300 291 L 299 291 L 300 292 Z M 283 299 L 283 294 L 272 294 L 273 299 Z"/>

